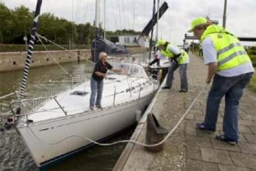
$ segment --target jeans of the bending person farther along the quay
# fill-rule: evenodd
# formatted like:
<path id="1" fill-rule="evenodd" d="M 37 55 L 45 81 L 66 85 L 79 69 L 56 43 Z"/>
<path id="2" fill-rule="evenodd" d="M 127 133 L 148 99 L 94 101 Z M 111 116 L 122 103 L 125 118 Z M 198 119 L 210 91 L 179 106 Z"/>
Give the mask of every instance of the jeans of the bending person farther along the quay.
<path id="1" fill-rule="evenodd" d="M 187 66 L 188 64 L 178 65 L 176 62 L 171 62 L 170 67 L 168 68 L 168 75 L 166 78 L 166 86 L 172 86 L 172 80 L 174 78 L 174 71 L 180 67 L 180 77 L 181 77 L 181 90 L 188 90 L 188 80 L 187 80 Z"/>

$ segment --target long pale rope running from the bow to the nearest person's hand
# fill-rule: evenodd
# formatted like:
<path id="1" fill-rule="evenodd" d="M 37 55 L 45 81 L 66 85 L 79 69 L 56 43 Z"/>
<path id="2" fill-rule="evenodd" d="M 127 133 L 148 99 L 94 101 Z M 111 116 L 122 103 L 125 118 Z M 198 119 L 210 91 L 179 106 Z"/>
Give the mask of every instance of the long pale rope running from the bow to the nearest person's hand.
<path id="1" fill-rule="evenodd" d="M 201 93 L 205 90 L 205 87 L 206 87 L 207 84 L 204 85 L 204 87 L 201 89 L 201 91 L 198 93 L 198 96 L 193 100 L 193 102 L 189 105 L 187 111 L 183 114 L 183 116 L 180 118 L 180 120 L 177 122 L 177 124 L 174 126 L 174 128 L 172 128 L 172 130 L 168 133 L 168 135 L 160 142 L 156 143 L 156 144 L 145 144 L 145 143 L 141 143 L 141 142 L 137 142 L 137 141 L 133 141 L 133 140 L 121 140 L 121 141 L 116 141 L 116 142 L 112 142 L 112 143 L 99 143 L 99 142 L 96 142 L 96 141 L 93 141 L 91 140 L 90 138 L 88 137 L 85 137 L 85 136 L 81 136 L 81 135 L 72 135 L 72 136 L 68 136 L 66 138 L 63 138 L 62 140 L 60 141 L 57 141 L 57 142 L 54 142 L 54 143 L 46 143 L 46 142 L 43 142 L 40 140 L 40 138 L 34 134 L 33 130 L 31 129 L 30 126 L 28 126 L 28 128 L 31 130 L 32 134 L 41 142 L 41 143 L 44 143 L 44 144 L 47 144 L 47 145 L 55 145 L 55 144 L 58 144 L 58 143 L 61 143 L 65 140 L 67 140 L 68 138 L 71 138 L 71 137 L 80 137 L 80 138 L 83 138 L 85 140 L 88 140 L 94 144 L 98 144 L 98 145 L 102 145 L 102 146 L 109 146 L 109 145 L 115 145 L 115 144 L 118 144 L 118 143 L 134 143 L 134 144 L 138 144 L 138 145 L 142 145 L 142 146 L 145 146 L 145 147 L 154 147 L 154 146 L 157 146 L 157 145 L 160 145 L 162 143 L 164 143 L 172 134 L 172 132 L 174 132 L 178 125 L 180 125 L 180 123 L 183 121 L 183 119 L 186 117 L 187 113 L 189 112 L 189 110 L 192 108 L 192 106 L 194 105 L 195 102 L 197 102 L 198 98 L 200 97 Z"/>

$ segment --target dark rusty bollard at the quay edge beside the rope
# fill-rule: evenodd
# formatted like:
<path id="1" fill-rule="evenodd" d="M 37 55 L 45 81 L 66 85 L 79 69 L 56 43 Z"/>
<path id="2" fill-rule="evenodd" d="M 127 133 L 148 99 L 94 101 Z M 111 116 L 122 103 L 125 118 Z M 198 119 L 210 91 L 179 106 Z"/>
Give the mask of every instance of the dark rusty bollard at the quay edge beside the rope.
<path id="1" fill-rule="evenodd" d="M 153 113 L 147 115 L 147 128 L 146 128 L 146 144 L 156 144 L 162 141 L 165 135 L 168 134 L 168 130 L 159 125 L 156 117 Z M 157 153 L 162 151 L 164 143 L 153 147 L 145 147 L 147 151 Z"/>

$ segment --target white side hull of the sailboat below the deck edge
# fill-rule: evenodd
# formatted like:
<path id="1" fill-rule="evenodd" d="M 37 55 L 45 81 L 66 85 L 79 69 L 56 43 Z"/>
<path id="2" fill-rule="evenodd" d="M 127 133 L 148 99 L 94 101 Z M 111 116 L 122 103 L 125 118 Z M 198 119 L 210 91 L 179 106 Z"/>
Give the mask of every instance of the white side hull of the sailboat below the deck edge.
<path id="1" fill-rule="evenodd" d="M 99 141 L 136 122 L 136 111 L 144 112 L 154 92 L 103 110 L 67 115 L 17 130 L 38 167 L 62 159 L 92 143 L 83 137 Z"/>

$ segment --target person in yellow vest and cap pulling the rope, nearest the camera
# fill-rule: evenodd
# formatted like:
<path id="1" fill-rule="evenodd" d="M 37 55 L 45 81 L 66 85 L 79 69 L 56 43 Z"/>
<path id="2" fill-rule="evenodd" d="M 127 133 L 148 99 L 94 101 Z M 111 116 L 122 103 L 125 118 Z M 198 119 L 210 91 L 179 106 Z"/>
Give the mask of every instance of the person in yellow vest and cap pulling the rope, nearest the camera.
<path id="1" fill-rule="evenodd" d="M 225 96 L 224 134 L 216 138 L 237 144 L 239 101 L 254 72 L 252 62 L 233 34 L 221 26 L 211 26 L 210 21 L 204 17 L 195 18 L 189 31 L 193 31 L 202 44 L 204 62 L 209 68 L 206 83 L 211 83 L 213 78 L 205 119 L 197 123 L 197 128 L 213 132 L 216 130 L 219 103 Z"/>

